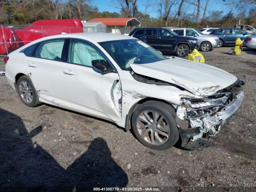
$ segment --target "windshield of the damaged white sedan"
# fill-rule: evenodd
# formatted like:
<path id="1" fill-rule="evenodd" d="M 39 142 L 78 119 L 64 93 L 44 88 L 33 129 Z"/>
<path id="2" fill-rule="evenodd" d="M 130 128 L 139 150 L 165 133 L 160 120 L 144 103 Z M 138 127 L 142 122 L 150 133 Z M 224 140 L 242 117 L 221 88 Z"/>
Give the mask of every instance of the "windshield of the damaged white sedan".
<path id="1" fill-rule="evenodd" d="M 167 59 L 160 52 L 137 39 L 107 41 L 99 44 L 122 70 L 132 70 L 130 64 L 146 64 Z"/>

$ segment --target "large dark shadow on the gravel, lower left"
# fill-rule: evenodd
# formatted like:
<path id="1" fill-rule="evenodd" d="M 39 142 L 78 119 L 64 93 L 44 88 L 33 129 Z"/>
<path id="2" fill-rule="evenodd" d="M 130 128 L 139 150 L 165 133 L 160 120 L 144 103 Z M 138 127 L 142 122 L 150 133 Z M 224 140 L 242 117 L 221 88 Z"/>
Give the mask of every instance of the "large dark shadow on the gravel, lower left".
<path id="1" fill-rule="evenodd" d="M 102 138 L 94 139 L 67 169 L 31 138 L 42 127 L 27 132 L 22 120 L 0 109 L 0 191 L 87 192 L 94 187 L 124 187 L 126 173 L 111 157 Z"/>

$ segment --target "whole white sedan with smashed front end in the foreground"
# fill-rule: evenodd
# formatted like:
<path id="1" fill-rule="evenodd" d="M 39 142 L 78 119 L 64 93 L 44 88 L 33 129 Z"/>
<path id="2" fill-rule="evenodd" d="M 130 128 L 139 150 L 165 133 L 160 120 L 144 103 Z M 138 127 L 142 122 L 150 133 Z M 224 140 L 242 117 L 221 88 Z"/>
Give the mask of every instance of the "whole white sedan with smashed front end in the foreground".
<path id="1" fill-rule="evenodd" d="M 244 99 L 244 81 L 219 68 L 166 58 L 136 38 L 62 34 L 5 58 L 6 78 L 26 106 L 41 102 L 133 129 L 147 147 L 208 146 Z"/>

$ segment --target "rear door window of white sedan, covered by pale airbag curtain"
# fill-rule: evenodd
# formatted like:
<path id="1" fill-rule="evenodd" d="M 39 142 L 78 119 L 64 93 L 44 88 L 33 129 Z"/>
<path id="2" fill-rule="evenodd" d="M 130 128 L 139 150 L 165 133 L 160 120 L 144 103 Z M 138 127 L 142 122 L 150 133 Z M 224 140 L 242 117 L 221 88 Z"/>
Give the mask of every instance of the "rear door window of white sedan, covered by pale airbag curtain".
<path id="1" fill-rule="evenodd" d="M 58 39 L 40 43 L 36 57 L 60 61 L 64 42 L 64 39 Z"/>

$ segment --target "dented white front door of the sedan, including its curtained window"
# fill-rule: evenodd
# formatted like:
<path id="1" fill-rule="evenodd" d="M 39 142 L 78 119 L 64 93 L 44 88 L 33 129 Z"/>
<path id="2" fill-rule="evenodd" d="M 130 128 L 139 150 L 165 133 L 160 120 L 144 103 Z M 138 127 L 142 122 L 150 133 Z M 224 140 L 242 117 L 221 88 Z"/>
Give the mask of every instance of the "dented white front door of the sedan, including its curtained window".
<path id="1" fill-rule="evenodd" d="M 120 121 L 111 98 L 111 89 L 119 76 L 101 74 L 92 68 L 92 60 L 105 60 L 95 46 L 82 40 L 71 40 L 68 67 L 63 70 L 63 84 L 68 105 L 72 108 Z"/>

